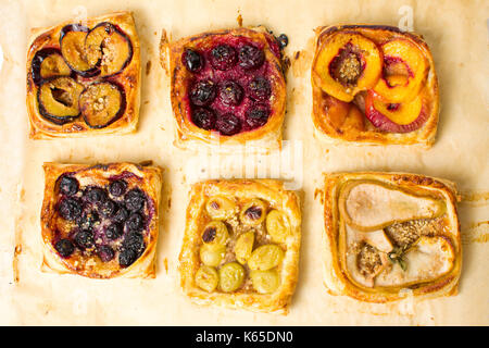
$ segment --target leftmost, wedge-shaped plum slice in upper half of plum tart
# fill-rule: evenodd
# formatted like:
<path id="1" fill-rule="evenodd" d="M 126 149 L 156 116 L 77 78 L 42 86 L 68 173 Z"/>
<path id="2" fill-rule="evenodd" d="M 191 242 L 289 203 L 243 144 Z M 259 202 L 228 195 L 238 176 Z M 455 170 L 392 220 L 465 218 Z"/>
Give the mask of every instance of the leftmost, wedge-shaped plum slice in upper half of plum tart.
<path id="1" fill-rule="evenodd" d="M 34 83 L 40 85 L 43 79 L 50 77 L 70 76 L 72 70 L 64 61 L 59 49 L 46 48 L 34 55 L 30 72 Z"/>

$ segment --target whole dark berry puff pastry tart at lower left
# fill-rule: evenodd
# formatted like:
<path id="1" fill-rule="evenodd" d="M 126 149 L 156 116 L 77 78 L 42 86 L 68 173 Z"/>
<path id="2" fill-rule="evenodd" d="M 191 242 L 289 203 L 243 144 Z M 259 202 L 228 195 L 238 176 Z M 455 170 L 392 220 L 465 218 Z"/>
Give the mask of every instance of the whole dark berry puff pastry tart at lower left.
<path id="1" fill-rule="evenodd" d="M 161 170 L 45 163 L 42 271 L 154 277 Z"/>

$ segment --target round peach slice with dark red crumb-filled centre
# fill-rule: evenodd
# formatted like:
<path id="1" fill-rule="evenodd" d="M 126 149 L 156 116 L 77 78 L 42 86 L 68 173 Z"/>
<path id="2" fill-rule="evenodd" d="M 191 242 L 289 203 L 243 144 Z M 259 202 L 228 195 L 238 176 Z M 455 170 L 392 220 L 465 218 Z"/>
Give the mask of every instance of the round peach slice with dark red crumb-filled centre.
<path id="1" fill-rule="evenodd" d="M 350 102 L 377 84 L 381 66 L 383 54 L 374 41 L 359 33 L 337 33 L 321 48 L 313 78 L 328 95 Z"/>

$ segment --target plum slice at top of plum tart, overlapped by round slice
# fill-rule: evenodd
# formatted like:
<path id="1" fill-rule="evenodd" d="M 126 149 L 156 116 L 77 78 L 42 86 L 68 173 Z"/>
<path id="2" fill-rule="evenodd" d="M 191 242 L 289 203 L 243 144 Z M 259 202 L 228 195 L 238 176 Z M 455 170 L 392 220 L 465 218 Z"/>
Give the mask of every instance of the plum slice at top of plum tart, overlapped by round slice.
<path id="1" fill-rule="evenodd" d="M 83 77 L 92 77 L 100 73 L 96 64 L 87 59 L 85 39 L 88 27 L 77 24 L 68 24 L 61 29 L 60 46 L 66 64 Z"/>

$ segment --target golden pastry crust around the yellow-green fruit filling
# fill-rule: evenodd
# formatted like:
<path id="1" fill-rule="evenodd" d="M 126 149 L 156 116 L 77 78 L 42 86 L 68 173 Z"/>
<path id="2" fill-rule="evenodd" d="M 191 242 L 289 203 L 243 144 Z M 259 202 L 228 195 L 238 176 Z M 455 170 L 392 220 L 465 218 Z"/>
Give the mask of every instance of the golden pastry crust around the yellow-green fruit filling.
<path id="1" fill-rule="evenodd" d="M 199 247 L 201 234 L 209 217 L 205 216 L 205 203 L 210 197 L 223 195 L 235 198 L 238 204 L 254 198 L 269 203 L 269 209 L 284 212 L 290 223 L 290 233 L 281 244 L 286 249 L 281 263 L 280 285 L 266 295 L 240 288 L 233 293 L 208 293 L 199 288 L 195 275 L 201 262 Z M 299 271 L 299 249 L 301 237 L 301 213 L 299 198 L 293 191 L 284 189 L 284 183 L 274 179 L 231 179 L 206 181 L 192 186 L 187 208 L 186 231 L 179 256 L 180 285 L 184 293 L 198 304 L 217 304 L 255 312 L 277 312 L 287 314 L 293 295 Z"/>

